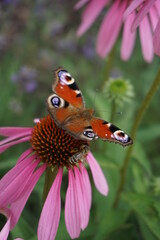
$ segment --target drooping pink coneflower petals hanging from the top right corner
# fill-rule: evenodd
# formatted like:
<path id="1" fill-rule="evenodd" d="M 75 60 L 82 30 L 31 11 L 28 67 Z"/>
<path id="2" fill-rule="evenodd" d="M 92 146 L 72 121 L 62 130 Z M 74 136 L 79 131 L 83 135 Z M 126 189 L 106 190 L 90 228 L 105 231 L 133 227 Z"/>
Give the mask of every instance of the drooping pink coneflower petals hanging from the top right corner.
<path id="1" fill-rule="evenodd" d="M 86 2 L 88 1 L 79 1 L 75 8 L 82 7 Z M 113 3 L 109 0 L 91 0 L 83 12 L 82 23 L 77 31 L 77 35 L 83 35 L 96 20 L 102 9 L 109 4 L 110 8 L 98 32 L 97 53 L 101 57 L 105 57 L 110 53 L 123 25 L 121 58 L 125 61 L 128 60 L 135 45 L 136 27 L 139 26 L 142 54 L 147 62 L 151 62 L 154 52 L 153 42 L 155 53 L 158 54 L 160 51 L 159 27 L 157 25 L 160 17 L 159 0 L 115 0 Z M 156 26 L 153 40 L 152 35 Z"/>

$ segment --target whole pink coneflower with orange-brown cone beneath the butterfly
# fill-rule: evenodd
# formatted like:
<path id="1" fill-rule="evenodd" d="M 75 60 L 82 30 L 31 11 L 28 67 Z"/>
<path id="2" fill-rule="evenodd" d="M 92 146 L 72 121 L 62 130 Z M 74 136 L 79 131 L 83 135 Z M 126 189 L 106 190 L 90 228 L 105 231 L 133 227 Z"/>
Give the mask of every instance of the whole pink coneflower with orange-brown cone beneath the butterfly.
<path id="1" fill-rule="evenodd" d="M 7 218 L 0 232 L 0 239 L 7 239 L 9 231 L 17 224 L 32 190 L 47 167 L 58 167 L 58 173 L 42 209 L 38 240 L 53 240 L 56 236 L 61 213 L 60 189 L 64 167 L 67 167 L 69 176 L 65 222 L 70 237 L 77 238 L 81 229 L 84 230 L 88 225 L 92 201 L 84 158 L 90 166 L 96 188 L 103 195 L 108 194 L 106 179 L 91 152 L 84 154 L 84 149 L 89 148 L 88 142 L 74 139 L 58 128 L 49 116 L 36 119 L 35 122 L 34 128 L 0 128 L 0 135 L 6 137 L 0 141 L 0 153 L 26 141 L 32 146 L 19 157 L 16 165 L 0 181 L 0 213 Z M 74 155 L 73 149 L 77 150 Z"/>

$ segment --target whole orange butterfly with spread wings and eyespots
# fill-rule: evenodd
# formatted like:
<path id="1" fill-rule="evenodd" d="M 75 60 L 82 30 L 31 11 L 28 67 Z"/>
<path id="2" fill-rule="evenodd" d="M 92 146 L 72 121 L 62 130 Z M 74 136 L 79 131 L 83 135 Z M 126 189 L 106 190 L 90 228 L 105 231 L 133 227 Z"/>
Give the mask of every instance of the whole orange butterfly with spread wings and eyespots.
<path id="1" fill-rule="evenodd" d="M 63 68 L 55 72 L 53 93 L 47 99 L 47 109 L 56 124 L 80 140 L 101 138 L 104 141 L 132 144 L 132 139 L 121 129 L 94 116 L 85 107 L 84 99 L 74 78 Z"/>

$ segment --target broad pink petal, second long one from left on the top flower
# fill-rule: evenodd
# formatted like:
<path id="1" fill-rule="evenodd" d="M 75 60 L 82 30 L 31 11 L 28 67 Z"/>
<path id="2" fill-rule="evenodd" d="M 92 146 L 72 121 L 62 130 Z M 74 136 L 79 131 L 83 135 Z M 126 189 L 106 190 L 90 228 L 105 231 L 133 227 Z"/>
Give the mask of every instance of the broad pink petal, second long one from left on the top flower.
<path id="1" fill-rule="evenodd" d="M 97 53 L 101 57 L 105 57 L 110 52 L 118 37 L 126 3 L 126 1 L 115 1 L 101 24 L 96 44 Z"/>

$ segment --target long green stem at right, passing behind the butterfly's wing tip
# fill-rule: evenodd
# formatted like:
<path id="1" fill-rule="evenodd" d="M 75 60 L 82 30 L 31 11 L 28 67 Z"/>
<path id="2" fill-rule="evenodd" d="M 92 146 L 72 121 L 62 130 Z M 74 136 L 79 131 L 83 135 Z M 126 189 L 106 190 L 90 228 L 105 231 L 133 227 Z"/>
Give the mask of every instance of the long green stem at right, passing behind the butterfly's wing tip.
<path id="1" fill-rule="evenodd" d="M 132 136 L 133 140 L 135 140 L 137 129 L 138 129 L 138 127 L 139 127 L 139 125 L 142 121 L 142 118 L 144 116 L 144 113 L 145 113 L 147 107 L 151 103 L 152 97 L 156 93 L 156 90 L 157 90 L 159 84 L 160 84 L 160 69 L 159 69 L 159 71 L 157 73 L 157 76 L 156 76 L 150 90 L 148 91 L 145 99 L 143 100 L 143 102 L 140 106 L 140 109 L 137 113 L 136 119 L 134 121 L 132 130 L 131 130 L 131 136 Z M 131 145 L 128 148 L 128 151 L 126 153 L 122 168 L 120 170 L 120 181 L 119 181 L 119 186 L 118 186 L 118 189 L 117 189 L 115 201 L 114 201 L 114 204 L 113 204 L 113 208 L 116 208 L 119 204 L 120 196 L 121 196 L 121 193 L 122 193 L 122 191 L 124 189 L 124 185 L 125 185 L 126 173 L 127 173 L 127 169 L 128 169 L 129 160 L 131 159 L 132 151 L 133 151 L 133 145 Z"/>

